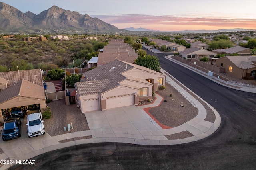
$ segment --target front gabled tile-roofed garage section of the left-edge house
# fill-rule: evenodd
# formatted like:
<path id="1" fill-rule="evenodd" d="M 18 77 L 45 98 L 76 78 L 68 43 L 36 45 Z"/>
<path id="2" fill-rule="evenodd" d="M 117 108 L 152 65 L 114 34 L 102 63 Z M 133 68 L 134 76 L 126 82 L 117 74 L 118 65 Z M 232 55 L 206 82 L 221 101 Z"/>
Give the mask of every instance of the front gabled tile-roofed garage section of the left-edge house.
<path id="1" fill-rule="evenodd" d="M 33 84 L 27 80 L 20 80 L 9 88 L 0 92 L 0 121 L 4 121 L 2 111 L 20 106 L 38 105 L 41 109 L 46 107 L 44 87 Z"/>

